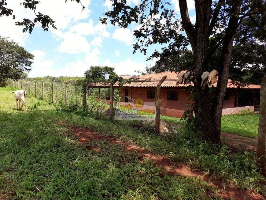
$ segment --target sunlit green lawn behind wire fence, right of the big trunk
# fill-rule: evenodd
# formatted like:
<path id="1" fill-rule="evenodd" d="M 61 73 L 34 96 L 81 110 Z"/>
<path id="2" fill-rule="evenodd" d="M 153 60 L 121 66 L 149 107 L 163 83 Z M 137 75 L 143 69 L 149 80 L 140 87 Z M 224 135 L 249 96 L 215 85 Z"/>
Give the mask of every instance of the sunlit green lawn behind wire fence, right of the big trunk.
<path id="1" fill-rule="evenodd" d="M 258 138 L 259 114 L 224 115 L 221 130 L 248 138 Z"/>

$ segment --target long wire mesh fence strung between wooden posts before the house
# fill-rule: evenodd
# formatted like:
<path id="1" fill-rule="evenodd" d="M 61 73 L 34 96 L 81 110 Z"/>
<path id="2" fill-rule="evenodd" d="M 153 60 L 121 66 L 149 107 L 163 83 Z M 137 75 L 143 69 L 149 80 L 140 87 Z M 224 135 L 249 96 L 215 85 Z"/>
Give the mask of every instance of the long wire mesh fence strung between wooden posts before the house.
<path id="1" fill-rule="evenodd" d="M 86 104 L 92 107 L 92 100 L 101 101 L 105 104 L 103 111 L 106 111 L 110 108 L 110 100 L 113 97 L 113 107 L 117 111 L 114 113 L 115 119 L 143 120 L 155 126 L 156 115 L 158 115 L 160 131 L 167 132 L 173 126 L 184 122 L 184 114 L 188 106 L 193 108 L 194 96 L 191 92 L 191 84 L 177 85 L 177 80 L 171 76 L 160 83 L 162 77 L 161 75 L 144 78 L 124 84 L 122 87 L 114 84 L 113 95 L 110 85 L 89 84 L 86 89 Z M 73 110 L 84 106 L 83 87 L 72 82 L 9 80 L 8 83 L 11 87 L 25 89 L 28 94 L 40 100 L 69 106 Z M 213 100 L 211 92 L 208 100 L 206 104 L 211 105 Z M 257 138 L 259 104 L 260 85 L 246 85 L 241 88 L 228 83 L 222 109 L 221 131 Z M 195 116 L 194 112 L 193 115 Z"/>

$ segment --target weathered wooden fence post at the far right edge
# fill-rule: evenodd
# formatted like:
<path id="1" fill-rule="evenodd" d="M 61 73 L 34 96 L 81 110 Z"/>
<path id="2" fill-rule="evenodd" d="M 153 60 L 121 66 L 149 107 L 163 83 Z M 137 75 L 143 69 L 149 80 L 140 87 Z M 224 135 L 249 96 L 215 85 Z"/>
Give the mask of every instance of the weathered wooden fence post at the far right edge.
<path id="1" fill-rule="evenodd" d="M 257 156 L 262 175 L 266 176 L 266 160 L 265 160 L 265 136 L 266 136 L 266 74 L 260 85 L 260 118 L 259 118 L 259 134 Z"/>

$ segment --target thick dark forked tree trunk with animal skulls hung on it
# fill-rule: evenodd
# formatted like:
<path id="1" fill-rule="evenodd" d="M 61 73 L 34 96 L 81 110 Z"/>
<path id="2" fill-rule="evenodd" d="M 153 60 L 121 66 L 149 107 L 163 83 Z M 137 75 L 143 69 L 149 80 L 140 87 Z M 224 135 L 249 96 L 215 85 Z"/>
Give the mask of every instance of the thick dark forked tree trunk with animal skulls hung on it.
<path id="1" fill-rule="evenodd" d="M 220 2 L 220 1 L 219 1 Z M 209 36 L 214 26 L 213 19 L 210 23 L 210 8 L 211 0 L 195 0 L 196 6 L 196 23 L 195 28 L 191 25 L 187 2 L 186 0 L 179 0 L 180 14 L 184 29 L 190 41 L 194 58 L 194 94 L 195 94 L 195 117 L 197 120 L 196 129 L 201 132 L 202 138 L 206 142 L 214 144 L 221 144 L 221 117 L 224 105 L 224 96 L 227 88 L 229 77 L 231 50 L 233 46 L 234 36 L 238 28 L 238 16 L 240 0 L 234 2 L 232 7 L 232 16 L 230 17 L 227 30 L 225 32 L 221 56 L 221 64 L 219 72 L 219 80 L 213 101 L 209 97 L 208 89 L 201 89 L 201 74 L 208 70 L 208 49 Z M 217 17 L 218 13 L 214 13 Z"/>

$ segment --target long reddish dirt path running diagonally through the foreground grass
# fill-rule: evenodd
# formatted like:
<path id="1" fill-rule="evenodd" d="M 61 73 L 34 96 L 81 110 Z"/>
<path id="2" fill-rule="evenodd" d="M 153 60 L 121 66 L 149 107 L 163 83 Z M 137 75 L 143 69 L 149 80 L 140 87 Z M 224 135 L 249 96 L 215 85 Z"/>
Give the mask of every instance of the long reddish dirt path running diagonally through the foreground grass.
<path id="1" fill-rule="evenodd" d="M 198 171 L 191 171 L 188 165 L 180 164 L 180 163 L 174 163 L 170 161 L 167 157 L 163 157 L 160 155 L 156 155 L 155 153 L 149 152 L 146 149 L 134 145 L 131 142 L 125 142 L 117 138 L 113 137 L 106 137 L 102 136 L 97 132 L 93 132 L 87 128 L 83 127 L 77 127 L 77 126 L 68 126 L 65 125 L 64 122 L 56 122 L 57 124 L 64 125 L 67 127 L 67 129 L 71 132 L 74 132 L 74 137 L 80 142 L 80 143 L 87 143 L 91 140 L 94 141 L 101 141 L 106 140 L 109 141 L 111 144 L 122 144 L 124 145 L 124 149 L 126 151 L 135 151 L 141 154 L 141 157 L 139 157 L 139 160 L 143 161 L 146 159 L 149 159 L 153 162 L 154 166 L 157 166 L 164 170 L 165 173 L 173 175 L 173 174 L 179 174 L 184 176 L 199 176 L 209 184 L 211 184 L 213 187 L 216 188 L 218 191 L 218 195 L 224 199 L 257 199 L 257 200 L 265 200 L 265 198 L 260 194 L 251 193 L 245 190 L 241 190 L 238 187 L 231 188 L 227 185 L 223 185 L 222 180 L 213 179 L 210 178 L 209 175 L 205 175 L 204 172 L 198 172 Z M 93 149 L 95 151 L 100 151 L 98 147 L 95 146 L 88 146 L 87 148 Z"/>

